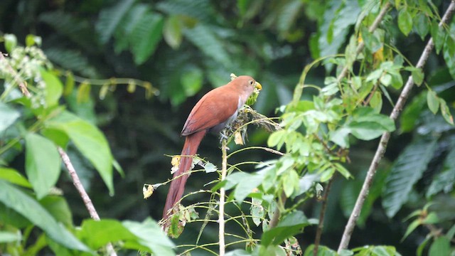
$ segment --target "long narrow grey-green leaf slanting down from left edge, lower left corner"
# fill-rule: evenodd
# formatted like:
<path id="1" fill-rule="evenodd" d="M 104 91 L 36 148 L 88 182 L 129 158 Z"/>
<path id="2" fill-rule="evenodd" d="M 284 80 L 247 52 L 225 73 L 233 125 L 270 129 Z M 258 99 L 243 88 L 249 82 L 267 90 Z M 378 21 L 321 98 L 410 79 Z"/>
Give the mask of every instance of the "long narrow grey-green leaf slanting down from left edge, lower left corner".
<path id="1" fill-rule="evenodd" d="M 10 183 L 0 180 L 0 202 L 41 228 L 50 239 L 70 249 L 88 251 L 86 245 L 66 230 L 37 201 Z"/>

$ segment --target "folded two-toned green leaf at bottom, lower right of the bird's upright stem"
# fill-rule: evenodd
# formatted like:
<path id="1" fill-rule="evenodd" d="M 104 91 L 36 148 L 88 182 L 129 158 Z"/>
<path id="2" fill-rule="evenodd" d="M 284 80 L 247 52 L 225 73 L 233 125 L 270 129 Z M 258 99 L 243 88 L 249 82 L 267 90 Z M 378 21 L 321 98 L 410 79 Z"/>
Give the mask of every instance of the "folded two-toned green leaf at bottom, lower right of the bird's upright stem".
<path id="1" fill-rule="evenodd" d="M 296 210 L 286 215 L 277 227 L 265 231 L 262 234 L 261 243 L 264 246 L 280 245 L 286 238 L 300 233 L 304 227 L 310 224 L 304 213 Z"/>

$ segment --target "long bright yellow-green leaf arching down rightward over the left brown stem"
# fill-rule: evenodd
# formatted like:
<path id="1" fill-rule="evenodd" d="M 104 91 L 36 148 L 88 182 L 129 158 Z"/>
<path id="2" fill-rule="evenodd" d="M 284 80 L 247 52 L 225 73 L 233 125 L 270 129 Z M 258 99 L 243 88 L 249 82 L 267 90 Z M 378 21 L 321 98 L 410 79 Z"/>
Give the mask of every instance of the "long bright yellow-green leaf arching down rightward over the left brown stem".
<path id="1" fill-rule="evenodd" d="M 65 132 L 82 155 L 95 166 L 107 188 L 109 188 L 109 193 L 114 194 L 113 157 L 107 139 L 100 129 L 70 112 L 62 112 L 57 117 L 48 120 L 45 125 Z"/>

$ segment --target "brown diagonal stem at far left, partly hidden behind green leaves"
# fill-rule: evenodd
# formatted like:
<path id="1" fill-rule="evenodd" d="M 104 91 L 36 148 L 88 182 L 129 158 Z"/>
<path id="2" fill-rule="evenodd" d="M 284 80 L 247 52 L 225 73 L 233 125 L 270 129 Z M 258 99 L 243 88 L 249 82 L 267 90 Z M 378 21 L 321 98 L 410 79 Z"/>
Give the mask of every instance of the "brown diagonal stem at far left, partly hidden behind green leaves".
<path id="1" fill-rule="evenodd" d="M 28 92 L 27 86 L 25 83 L 23 83 L 21 80 L 19 80 L 18 75 L 16 75 L 16 71 L 14 70 L 11 65 L 8 64 L 6 61 L 6 58 L 4 57 L 4 54 L 0 52 L 0 59 L 5 61 L 7 68 L 11 72 L 11 74 L 14 76 L 14 82 L 18 84 L 18 87 L 21 89 L 22 94 L 25 97 L 31 97 L 30 92 Z M 87 208 L 88 212 L 90 213 L 90 217 L 94 220 L 100 220 L 100 216 L 97 213 L 97 210 L 95 210 L 95 206 L 93 206 L 92 200 L 90 200 L 90 197 L 88 196 L 87 192 L 85 191 L 84 186 L 82 186 L 82 183 L 80 182 L 79 176 L 77 176 L 76 170 L 74 169 L 73 164 L 70 161 L 70 157 L 66 152 L 60 147 L 57 146 L 58 153 L 60 154 L 60 157 L 63 160 L 63 164 L 65 164 L 66 168 L 68 169 L 68 173 L 70 174 L 71 178 L 73 179 L 73 184 L 77 191 L 79 192 L 82 201 L 85 204 L 85 207 Z M 107 253 L 111 256 L 117 256 L 117 253 L 114 250 L 114 247 L 112 246 L 112 243 L 107 243 L 106 245 L 106 250 Z"/>

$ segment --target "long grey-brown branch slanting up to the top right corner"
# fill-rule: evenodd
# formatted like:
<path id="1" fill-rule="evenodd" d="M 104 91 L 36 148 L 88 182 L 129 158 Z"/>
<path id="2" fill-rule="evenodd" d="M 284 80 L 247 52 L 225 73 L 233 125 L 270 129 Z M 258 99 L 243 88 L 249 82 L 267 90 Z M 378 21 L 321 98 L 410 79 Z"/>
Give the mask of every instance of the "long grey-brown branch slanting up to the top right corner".
<path id="1" fill-rule="evenodd" d="M 451 4 L 449 5 L 449 8 L 446 10 L 446 13 L 441 19 L 441 22 L 439 22 L 439 26 L 443 26 L 444 23 L 449 21 L 451 15 L 453 14 L 455 10 L 455 0 L 451 1 Z M 434 43 L 433 43 L 433 38 L 430 38 L 427 46 L 425 46 L 424 51 L 422 55 L 419 58 L 419 62 L 417 62 L 416 67 L 417 68 L 423 68 L 424 64 L 427 62 L 427 59 L 429 57 L 429 53 L 432 52 L 434 48 Z M 412 86 L 414 86 L 414 80 L 412 80 L 412 75 L 409 76 L 407 79 L 406 85 L 403 88 L 400 97 L 397 100 L 397 104 L 392 110 L 392 113 L 390 114 L 390 118 L 392 120 L 396 120 L 397 117 L 400 115 L 400 112 L 402 111 L 405 102 L 407 100 L 407 97 L 409 97 L 410 92 L 412 90 Z M 380 139 L 378 149 L 376 149 L 375 156 L 373 158 L 373 161 L 371 161 L 370 168 L 368 169 L 367 176 L 365 177 L 365 181 L 363 182 L 362 190 L 360 191 L 357 201 L 355 202 L 355 206 L 353 209 L 353 212 L 350 214 L 348 223 L 346 224 L 346 228 L 343 233 L 343 237 L 341 238 L 340 245 L 338 247 L 338 253 L 341 253 L 341 250 L 344 250 L 348 247 L 350 236 L 353 233 L 355 223 L 357 223 L 358 217 L 360 216 L 360 211 L 362 210 L 363 203 L 365 202 L 365 199 L 368 196 L 368 191 L 371 187 L 371 184 L 373 183 L 373 178 L 376 174 L 376 171 L 378 170 L 378 165 L 379 162 L 381 161 L 382 157 L 385 154 L 385 149 L 387 148 L 387 144 L 390 139 L 390 132 L 385 132 L 382 134 L 382 137 Z"/>

